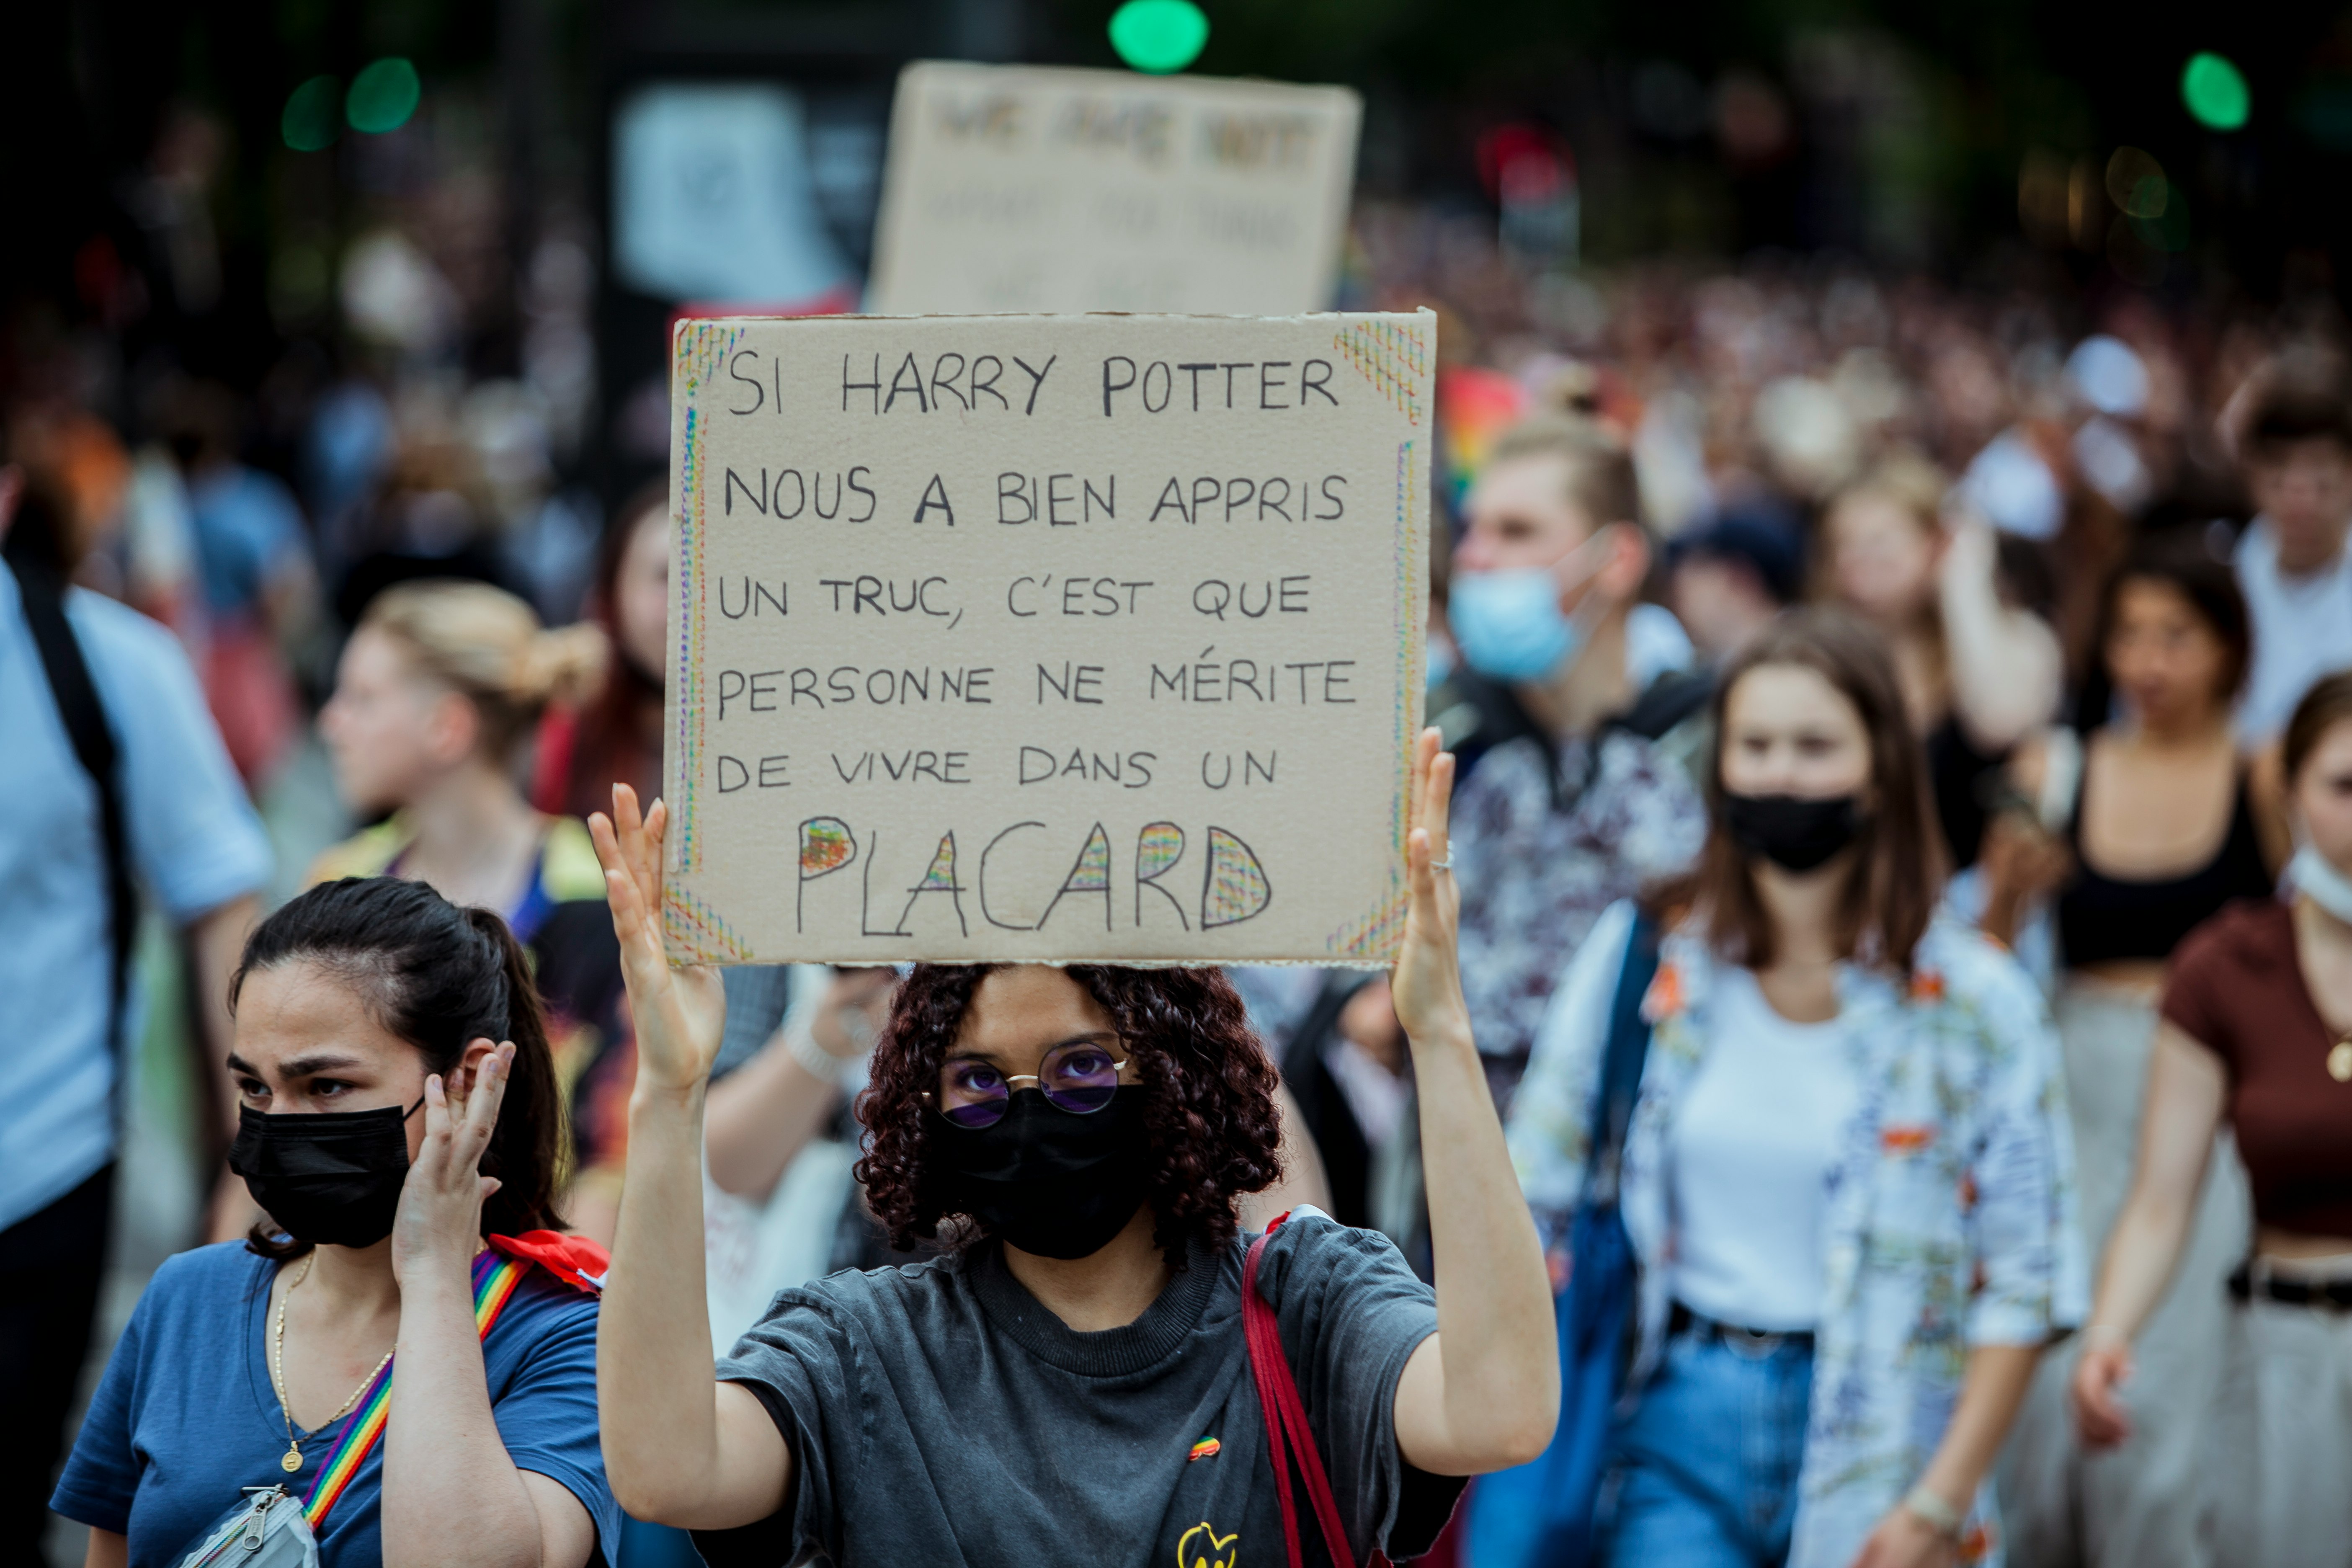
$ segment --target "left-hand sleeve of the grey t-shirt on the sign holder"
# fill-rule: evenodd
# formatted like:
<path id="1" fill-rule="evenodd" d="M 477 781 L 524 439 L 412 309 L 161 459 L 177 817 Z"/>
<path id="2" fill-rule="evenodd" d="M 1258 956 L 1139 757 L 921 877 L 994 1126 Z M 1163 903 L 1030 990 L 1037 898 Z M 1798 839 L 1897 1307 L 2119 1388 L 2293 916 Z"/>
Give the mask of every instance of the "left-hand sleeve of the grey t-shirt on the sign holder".
<path id="1" fill-rule="evenodd" d="M 696 1530 L 710 1568 L 781 1568 L 811 1549 L 840 1561 L 837 1486 L 856 1474 L 861 1408 L 856 1352 L 840 1312 L 804 1291 L 786 1291 L 767 1316 L 720 1359 L 720 1382 L 741 1382 L 767 1408 L 793 1450 L 783 1507 L 736 1530 Z"/>

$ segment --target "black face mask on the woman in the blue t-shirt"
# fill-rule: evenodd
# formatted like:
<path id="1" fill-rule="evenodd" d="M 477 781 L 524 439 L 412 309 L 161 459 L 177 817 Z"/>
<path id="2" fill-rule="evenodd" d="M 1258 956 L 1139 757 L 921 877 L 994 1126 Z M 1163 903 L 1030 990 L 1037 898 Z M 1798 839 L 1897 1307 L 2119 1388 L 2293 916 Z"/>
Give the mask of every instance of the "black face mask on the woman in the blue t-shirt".
<path id="1" fill-rule="evenodd" d="M 421 1105 L 278 1117 L 245 1105 L 228 1168 L 296 1241 L 374 1246 L 393 1234 L 409 1178 L 407 1121 Z"/>

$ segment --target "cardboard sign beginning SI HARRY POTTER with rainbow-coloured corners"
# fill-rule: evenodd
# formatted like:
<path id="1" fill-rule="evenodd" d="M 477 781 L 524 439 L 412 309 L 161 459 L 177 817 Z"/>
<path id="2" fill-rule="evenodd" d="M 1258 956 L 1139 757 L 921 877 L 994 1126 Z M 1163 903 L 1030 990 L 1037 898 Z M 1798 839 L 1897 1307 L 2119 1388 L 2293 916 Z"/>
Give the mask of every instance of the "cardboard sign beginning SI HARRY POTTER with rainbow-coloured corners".
<path id="1" fill-rule="evenodd" d="M 670 952 L 1390 959 L 1435 339 L 682 322 Z"/>

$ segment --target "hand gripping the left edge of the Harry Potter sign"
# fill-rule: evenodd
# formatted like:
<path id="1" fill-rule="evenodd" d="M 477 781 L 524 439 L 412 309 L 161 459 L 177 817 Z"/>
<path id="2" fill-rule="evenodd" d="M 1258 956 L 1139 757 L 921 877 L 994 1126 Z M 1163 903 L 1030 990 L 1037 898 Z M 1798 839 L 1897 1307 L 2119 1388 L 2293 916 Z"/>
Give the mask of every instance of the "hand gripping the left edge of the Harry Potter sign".
<path id="1" fill-rule="evenodd" d="M 621 938 L 621 978 L 637 1025 L 637 1086 L 684 1093 L 710 1077 L 727 1032 L 727 987 L 710 964 L 673 969 L 661 945 L 661 835 L 670 809 L 637 816 L 637 792 L 612 788 L 612 816 L 588 816 L 597 860 L 604 863 L 604 903 Z"/>

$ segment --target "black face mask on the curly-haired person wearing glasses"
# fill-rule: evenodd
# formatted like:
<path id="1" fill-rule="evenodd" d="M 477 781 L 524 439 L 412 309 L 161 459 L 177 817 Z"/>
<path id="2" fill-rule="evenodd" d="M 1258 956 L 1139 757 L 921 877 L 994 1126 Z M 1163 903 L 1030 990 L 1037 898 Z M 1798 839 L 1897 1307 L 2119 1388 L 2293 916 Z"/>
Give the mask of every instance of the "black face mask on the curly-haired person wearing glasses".
<path id="1" fill-rule="evenodd" d="M 1148 1138 L 1136 1084 L 1087 1114 L 1016 1088 L 995 1126 L 934 1117 L 931 1138 L 953 1173 L 948 1208 L 1023 1253 L 1089 1258 L 1143 1206 Z"/>

